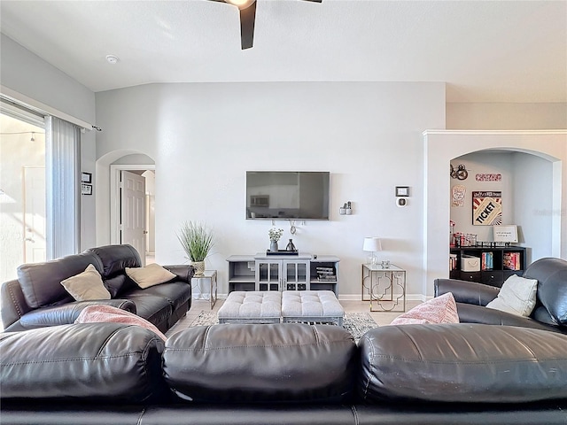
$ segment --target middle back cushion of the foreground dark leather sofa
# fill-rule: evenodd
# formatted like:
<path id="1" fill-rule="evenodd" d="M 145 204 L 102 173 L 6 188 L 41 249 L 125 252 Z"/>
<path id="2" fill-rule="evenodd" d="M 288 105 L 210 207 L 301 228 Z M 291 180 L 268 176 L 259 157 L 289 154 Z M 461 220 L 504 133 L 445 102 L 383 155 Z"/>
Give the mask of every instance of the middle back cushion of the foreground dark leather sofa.
<path id="1" fill-rule="evenodd" d="M 185 400 L 342 401 L 352 393 L 355 353 L 353 336 L 338 326 L 203 326 L 169 337 L 164 375 Z"/>

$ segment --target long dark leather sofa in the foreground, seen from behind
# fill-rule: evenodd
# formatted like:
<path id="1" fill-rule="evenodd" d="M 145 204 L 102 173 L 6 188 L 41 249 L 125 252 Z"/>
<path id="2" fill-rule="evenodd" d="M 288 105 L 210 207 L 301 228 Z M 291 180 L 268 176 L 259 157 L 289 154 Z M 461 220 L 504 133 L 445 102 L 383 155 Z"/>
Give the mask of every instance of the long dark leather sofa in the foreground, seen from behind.
<path id="1" fill-rule="evenodd" d="M 567 423 L 567 335 L 399 325 L 75 324 L 0 335 L 2 424 Z"/>

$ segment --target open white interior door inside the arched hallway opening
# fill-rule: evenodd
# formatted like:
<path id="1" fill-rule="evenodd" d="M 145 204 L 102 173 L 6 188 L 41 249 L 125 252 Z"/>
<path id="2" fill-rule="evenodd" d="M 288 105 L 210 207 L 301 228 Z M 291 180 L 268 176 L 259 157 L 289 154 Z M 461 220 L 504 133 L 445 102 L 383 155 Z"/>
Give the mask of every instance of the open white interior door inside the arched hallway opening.
<path id="1" fill-rule="evenodd" d="M 145 178 L 120 172 L 120 243 L 129 243 L 145 266 Z"/>

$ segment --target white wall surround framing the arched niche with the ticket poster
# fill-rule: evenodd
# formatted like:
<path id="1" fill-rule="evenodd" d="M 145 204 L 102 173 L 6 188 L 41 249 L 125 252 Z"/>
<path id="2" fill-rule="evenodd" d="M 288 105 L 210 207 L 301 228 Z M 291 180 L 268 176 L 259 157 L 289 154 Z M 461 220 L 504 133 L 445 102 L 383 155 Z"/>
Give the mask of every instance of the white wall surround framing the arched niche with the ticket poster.
<path id="1" fill-rule="evenodd" d="M 550 220 L 547 232 L 550 256 L 567 255 L 567 225 L 564 205 L 567 203 L 567 131 L 449 131 L 431 130 L 424 136 L 424 196 L 423 196 L 423 294 L 433 295 L 433 280 L 448 277 L 448 223 L 450 220 L 449 164 L 454 158 L 479 151 L 523 152 L 550 162 L 550 201 L 543 210 Z M 515 174 L 519 175 L 519 174 Z M 538 176 L 530 177 L 538 185 Z M 528 182 L 520 182 L 523 184 Z M 548 189 L 548 188 L 546 188 Z M 516 202 L 518 204 L 518 202 Z M 529 244 L 527 242 L 526 244 Z M 537 247 L 540 250 L 539 247 Z M 533 260 L 533 259 L 532 259 Z"/>

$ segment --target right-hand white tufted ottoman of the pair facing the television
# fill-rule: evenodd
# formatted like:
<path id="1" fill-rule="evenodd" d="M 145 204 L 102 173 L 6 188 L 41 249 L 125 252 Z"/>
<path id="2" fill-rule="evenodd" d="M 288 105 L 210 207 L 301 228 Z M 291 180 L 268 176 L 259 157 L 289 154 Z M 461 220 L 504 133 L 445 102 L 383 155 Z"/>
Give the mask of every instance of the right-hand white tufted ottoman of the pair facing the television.
<path id="1" fill-rule="evenodd" d="M 282 318 L 286 321 L 335 322 L 343 326 L 345 310 L 332 290 L 284 290 Z"/>

